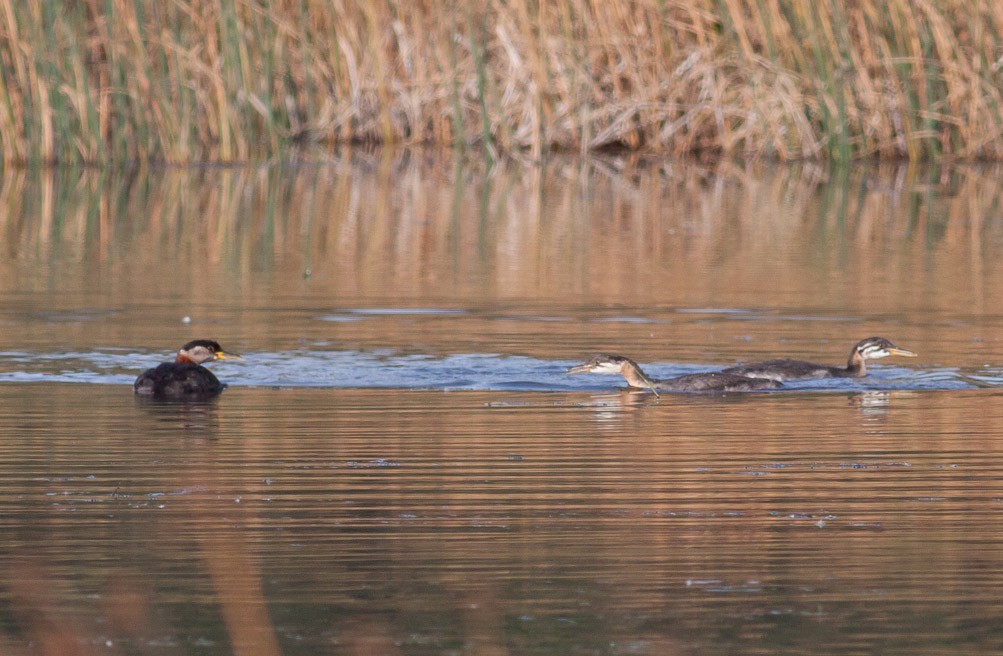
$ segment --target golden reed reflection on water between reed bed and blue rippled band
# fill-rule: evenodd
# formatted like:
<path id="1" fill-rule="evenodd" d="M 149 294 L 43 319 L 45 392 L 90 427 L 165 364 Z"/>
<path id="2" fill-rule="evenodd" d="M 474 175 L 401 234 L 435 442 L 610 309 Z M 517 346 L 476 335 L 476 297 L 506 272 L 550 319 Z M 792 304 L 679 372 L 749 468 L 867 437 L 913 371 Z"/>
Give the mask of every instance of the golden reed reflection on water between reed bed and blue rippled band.
<path id="1" fill-rule="evenodd" d="M 12 330 L 0 348 L 90 348 L 95 330 L 103 345 L 177 348 L 191 317 L 245 349 L 328 340 L 577 359 L 626 344 L 642 360 L 839 362 L 882 334 L 984 363 L 966 360 L 983 348 L 970 340 L 945 354 L 961 360 L 941 360 L 928 329 L 994 339 L 978 324 L 1003 314 L 997 171 L 613 163 L 355 154 L 294 169 L 11 172 L 0 320 Z M 402 308 L 465 314 L 390 325 L 341 313 Z M 687 309 L 718 316 L 680 320 Z M 552 321 L 582 310 L 592 321 Z M 438 329 L 415 331 L 419 321 Z"/>

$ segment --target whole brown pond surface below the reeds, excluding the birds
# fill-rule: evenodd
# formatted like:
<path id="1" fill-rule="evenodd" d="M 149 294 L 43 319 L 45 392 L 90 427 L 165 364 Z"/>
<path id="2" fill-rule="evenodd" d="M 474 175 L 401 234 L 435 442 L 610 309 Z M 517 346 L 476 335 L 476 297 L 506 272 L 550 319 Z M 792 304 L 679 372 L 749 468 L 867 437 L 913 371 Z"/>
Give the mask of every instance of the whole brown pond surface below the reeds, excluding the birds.
<path id="1" fill-rule="evenodd" d="M 998 178 L 8 174 L 0 649 L 1003 651 Z M 564 373 L 876 334 L 920 357 L 659 399 Z M 231 388 L 133 398 L 192 337 L 245 354 Z"/>

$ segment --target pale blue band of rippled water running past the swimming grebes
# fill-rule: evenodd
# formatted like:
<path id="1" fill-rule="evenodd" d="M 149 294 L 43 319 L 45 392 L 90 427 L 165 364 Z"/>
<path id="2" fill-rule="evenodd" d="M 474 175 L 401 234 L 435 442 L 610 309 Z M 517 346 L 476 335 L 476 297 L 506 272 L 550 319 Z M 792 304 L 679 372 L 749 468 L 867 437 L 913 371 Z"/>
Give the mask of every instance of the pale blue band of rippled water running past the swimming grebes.
<path id="1" fill-rule="evenodd" d="M 0 382 L 89 382 L 131 384 L 155 354 L 127 349 L 89 352 L 0 352 Z M 293 350 L 245 353 L 240 362 L 216 362 L 211 368 L 231 385 L 258 387 L 392 387 L 442 390 L 601 391 L 624 388 L 619 376 L 569 376 L 572 361 L 543 360 L 496 353 L 433 356 L 389 350 Z M 711 371 L 699 364 L 653 363 L 656 378 Z M 785 384 L 799 391 L 944 390 L 1003 386 L 1003 373 L 953 368 L 913 369 L 892 365 L 872 368 L 866 378 L 827 378 Z"/>

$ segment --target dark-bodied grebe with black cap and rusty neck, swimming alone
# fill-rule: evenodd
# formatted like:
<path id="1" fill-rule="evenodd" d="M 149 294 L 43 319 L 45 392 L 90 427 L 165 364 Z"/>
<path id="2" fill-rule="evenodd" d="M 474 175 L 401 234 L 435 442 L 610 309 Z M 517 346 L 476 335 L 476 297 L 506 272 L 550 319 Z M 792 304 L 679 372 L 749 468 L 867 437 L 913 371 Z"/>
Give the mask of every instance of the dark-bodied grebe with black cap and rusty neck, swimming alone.
<path id="1" fill-rule="evenodd" d="M 227 353 L 211 339 L 197 339 L 181 347 L 174 362 L 164 362 L 139 374 L 132 389 L 136 394 L 153 398 L 199 399 L 216 396 L 227 385 L 221 383 L 202 363 L 227 358 L 241 359 L 241 356 Z"/>

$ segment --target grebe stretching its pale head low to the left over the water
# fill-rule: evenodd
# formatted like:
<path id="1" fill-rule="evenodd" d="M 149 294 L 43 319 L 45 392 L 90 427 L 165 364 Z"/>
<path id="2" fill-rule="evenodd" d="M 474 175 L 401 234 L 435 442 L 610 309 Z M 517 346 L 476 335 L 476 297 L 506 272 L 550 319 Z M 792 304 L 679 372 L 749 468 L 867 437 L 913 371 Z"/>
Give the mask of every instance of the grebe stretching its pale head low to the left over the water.
<path id="1" fill-rule="evenodd" d="M 766 378 L 750 378 L 733 373 L 690 373 L 668 380 L 649 378 L 637 362 L 622 355 L 600 354 L 585 364 L 579 364 L 568 373 L 613 373 L 627 379 L 627 384 L 639 389 L 676 392 L 747 392 L 754 389 L 775 389 L 782 385 Z"/>

